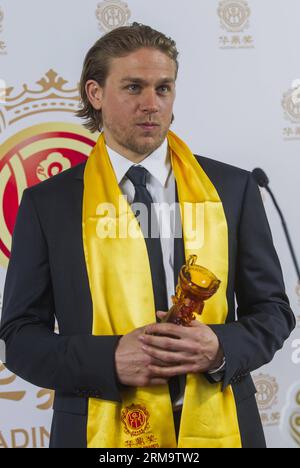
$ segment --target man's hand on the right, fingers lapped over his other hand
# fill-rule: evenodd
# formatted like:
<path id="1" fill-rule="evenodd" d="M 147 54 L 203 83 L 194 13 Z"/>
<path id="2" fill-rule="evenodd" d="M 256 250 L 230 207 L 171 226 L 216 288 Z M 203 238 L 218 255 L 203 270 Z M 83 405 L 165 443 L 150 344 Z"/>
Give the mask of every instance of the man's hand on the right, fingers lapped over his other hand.
<path id="1" fill-rule="evenodd" d="M 163 318 L 165 313 L 157 315 Z M 224 357 L 216 334 L 197 320 L 190 327 L 172 323 L 148 325 L 138 339 L 143 343 L 144 352 L 162 363 L 148 366 L 151 375 L 157 378 L 208 372 L 220 367 Z"/>

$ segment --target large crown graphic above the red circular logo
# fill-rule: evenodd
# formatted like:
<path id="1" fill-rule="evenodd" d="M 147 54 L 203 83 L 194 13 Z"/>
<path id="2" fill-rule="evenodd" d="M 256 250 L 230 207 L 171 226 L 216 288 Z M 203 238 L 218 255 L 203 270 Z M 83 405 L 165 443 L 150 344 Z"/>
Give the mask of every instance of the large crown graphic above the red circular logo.
<path id="1" fill-rule="evenodd" d="M 51 69 L 36 82 L 40 89 L 30 89 L 23 84 L 21 93 L 14 96 L 14 88 L 6 88 L 4 104 L 0 108 L 0 133 L 9 125 L 34 114 L 76 112 L 80 102 L 79 86 L 67 89 L 67 83 Z"/>

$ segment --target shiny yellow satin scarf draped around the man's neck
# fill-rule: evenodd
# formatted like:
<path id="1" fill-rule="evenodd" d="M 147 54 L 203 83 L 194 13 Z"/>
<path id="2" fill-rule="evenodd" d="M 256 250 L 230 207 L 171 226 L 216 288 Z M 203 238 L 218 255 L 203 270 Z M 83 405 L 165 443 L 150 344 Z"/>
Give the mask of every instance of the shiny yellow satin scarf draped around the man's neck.
<path id="1" fill-rule="evenodd" d="M 197 263 L 222 281 L 218 293 L 206 303 L 201 320 L 223 324 L 228 313 L 228 228 L 222 202 L 185 143 L 173 132 L 168 133 L 168 143 L 183 210 L 186 258 L 196 254 Z M 106 205 L 107 211 L 103 203 L 111 204 Z M 193 208 L 199 204 L 194 217 L 204 231 L 200 243 L 193 243 L 184 203 Z M 125 335 L 155 323 L 145 239 L 119 188 L 103 134 L 85 168 L 82 228 L 93 302 L 93 335 Z M 122 392 L 122 401 L 89 400 L 89 448 L 177 447 L 168 386 L 132 387 Z M 231 387 L 222 392 L 221 384 L 209 384 L 203 375 L 187 375 L 178 447 L 241 447 Z"/>

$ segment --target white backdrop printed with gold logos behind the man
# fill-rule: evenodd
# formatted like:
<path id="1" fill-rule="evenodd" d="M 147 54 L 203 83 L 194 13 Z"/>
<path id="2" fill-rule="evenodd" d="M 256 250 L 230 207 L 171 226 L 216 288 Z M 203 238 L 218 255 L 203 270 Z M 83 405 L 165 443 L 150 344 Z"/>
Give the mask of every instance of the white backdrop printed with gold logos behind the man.
<path id="1" fill-rule="evenodd" d="M 300 257 L 300 105 L 291 100 L 300 79 L 299 19 L 299 0 L 0 0 L 0 80 L 14 88 L 9 96 L 17 101 L 24 84 L 39 90 L 37 82 L 51 69 L 74 97 L 84 55 L 105 30 L 139 21 L 172 36 L 180 50 L 174 131 L 198 154 L 264 168 Z M 46 91 L 44 81 L 40 98 L 48 108 L 27 115 L 23 103 L 24 117 L 15 122 L 8 100 L 0 104 L 0 175 L 10 137 L 40 123 L 80 124 L 66 104 L 51 109 Z M 2 181 L 1 210 L 9 211 L 5 189 Z M 298 328 L 254 377 L 269 447 L 300 447 L 300 353 L 293 348 L 300 338 L 300 291 L 280 221 L 266 194 L 264 200 Z M 3 252 L 0 265 L 2 298 Z M 51 397 L 0 368 L 0 447 L 47 446 Z"/>

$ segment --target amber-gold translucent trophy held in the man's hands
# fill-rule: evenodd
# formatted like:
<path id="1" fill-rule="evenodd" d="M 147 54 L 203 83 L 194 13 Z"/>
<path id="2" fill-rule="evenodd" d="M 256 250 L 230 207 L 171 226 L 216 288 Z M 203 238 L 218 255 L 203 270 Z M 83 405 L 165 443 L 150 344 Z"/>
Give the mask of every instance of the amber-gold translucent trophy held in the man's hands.
<path id="1" fill-rule="evenodd" d="M 190 255 L 182 266 L 176 294 L 172 296 L 173 306 L 162 322 L 189 327 L 195 315 L 201 315 L 204 301 L 219 289 L 221 281 L 209 270 L 196 264 L 197 255 Z"/>

